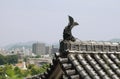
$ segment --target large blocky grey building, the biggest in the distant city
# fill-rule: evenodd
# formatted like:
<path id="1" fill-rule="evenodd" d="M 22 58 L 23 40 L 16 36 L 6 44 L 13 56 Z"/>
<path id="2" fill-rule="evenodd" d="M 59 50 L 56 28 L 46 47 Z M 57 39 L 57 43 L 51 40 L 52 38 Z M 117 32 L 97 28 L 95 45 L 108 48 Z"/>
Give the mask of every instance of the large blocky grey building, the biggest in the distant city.
<path id="1" fill-rule="evenodd" d="M 46 52 L 45 43 L 34 43 L 32 45 L 32 52 L 36 55 L 44 55 Z"/>

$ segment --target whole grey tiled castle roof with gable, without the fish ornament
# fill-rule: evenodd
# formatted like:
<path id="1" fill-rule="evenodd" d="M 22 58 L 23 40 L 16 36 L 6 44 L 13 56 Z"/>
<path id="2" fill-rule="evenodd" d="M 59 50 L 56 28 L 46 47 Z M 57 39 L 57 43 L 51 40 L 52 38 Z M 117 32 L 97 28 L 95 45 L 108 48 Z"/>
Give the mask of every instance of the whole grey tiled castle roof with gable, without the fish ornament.
<path id="1" fill-rule="evenodd" d="M 98 42 L 95 43 L 101 45 Z M 105 42 L 102 42 L 102 45 L 103 43 L 104 47 L 108 45 Z M 109 43 L 111 47 L 119 48 L 119 44 Z M 60 52 L 55 53 L 50 68 L 45 73 L 33 76 L 31 79 L 120 79 L 119 49 L 107 52 L 104 50 L 101 52 L 97 50 L 81 51 L 74 48 L 76 45 L 80 47 L 82 43 L 62 41 Z M 89 44 L 86 43 L 86 45 Z M 67 50 L 68 48 L 69 50 Z M 73 48 L 74 50 L 72 50 Z"/>

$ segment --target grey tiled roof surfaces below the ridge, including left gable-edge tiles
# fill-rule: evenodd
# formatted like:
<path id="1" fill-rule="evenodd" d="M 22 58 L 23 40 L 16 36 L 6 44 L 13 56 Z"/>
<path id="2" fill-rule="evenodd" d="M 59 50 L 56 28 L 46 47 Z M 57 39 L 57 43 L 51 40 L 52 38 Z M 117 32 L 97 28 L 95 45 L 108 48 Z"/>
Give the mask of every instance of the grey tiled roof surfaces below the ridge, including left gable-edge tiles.
<path id="1" fill-rule="evenodd" d="M 32 79 L 48 79 L 57 64 L 64 72 L 62 79 L 120 79 L 120 54 L 70 53 L 56 56 L 46 73 Z"/>

